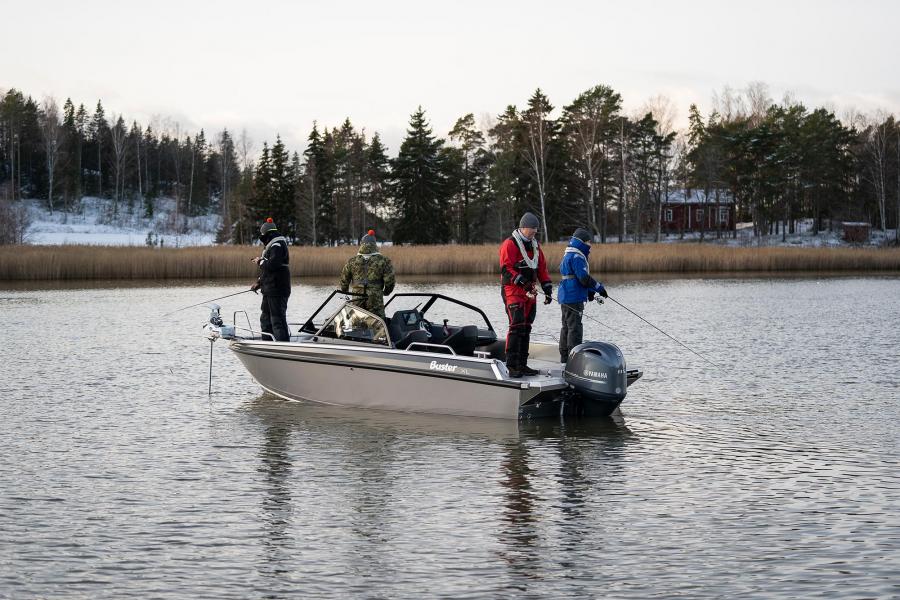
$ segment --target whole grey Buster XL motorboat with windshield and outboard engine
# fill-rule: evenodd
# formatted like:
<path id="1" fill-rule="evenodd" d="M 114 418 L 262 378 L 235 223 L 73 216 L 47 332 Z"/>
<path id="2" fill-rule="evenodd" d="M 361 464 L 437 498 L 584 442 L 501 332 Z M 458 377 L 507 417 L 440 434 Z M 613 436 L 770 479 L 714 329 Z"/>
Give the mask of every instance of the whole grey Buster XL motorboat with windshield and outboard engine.
<path id="1" fill-rule="evenodd" d="M 326 311 L 333 300 L 337 309 Z M 529 363 L 539 373 L 511 377 L 505 342 L 484 311 L 438 293 L 394 294 L 382 319 L 335 290 L 291 324 L 288 342 L 254 331 L 244 311 L 226 325 L 220 307 L 209 307 L 210 342 L 227 341 L 263 389 L 288 400 L 501 419 L 606 417 L 643 375 L 609 342 L 576 346 L 561 365 L 556 344 L 532 341 Z M 248 327 L 237 325 L 240 313 Z"/>

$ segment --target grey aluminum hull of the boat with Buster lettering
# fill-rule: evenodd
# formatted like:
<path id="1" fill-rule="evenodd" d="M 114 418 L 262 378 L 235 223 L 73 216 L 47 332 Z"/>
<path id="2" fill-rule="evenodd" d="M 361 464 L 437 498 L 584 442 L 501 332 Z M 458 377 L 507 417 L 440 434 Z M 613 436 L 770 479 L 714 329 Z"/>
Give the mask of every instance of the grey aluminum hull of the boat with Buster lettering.
<path id="1" fill-rule="evenodd" d="M 539 356 L 532 366 L 544 367 L 540 375 L 511 378 L 495 359 L 365 344 L 233 340 L 229 348 L 265 390 L 288 400 L 501 419 L 608 416 L 620 403 L 579 398 L 559 364 Z M 533 347 L 538 355 L 551 350 Z"/>

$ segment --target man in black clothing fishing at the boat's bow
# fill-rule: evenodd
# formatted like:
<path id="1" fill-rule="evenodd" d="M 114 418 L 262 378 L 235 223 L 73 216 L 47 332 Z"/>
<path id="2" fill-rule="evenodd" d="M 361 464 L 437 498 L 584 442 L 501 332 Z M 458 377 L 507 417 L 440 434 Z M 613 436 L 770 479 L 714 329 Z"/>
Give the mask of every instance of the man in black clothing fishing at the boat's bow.
<path id="1" fill-rule="evenodd" d="M 291 295 L 291 271 L 288 268 L 287 239 L 278 233 L 272 218 L 259 228 L 259 240 L 265 248 L 261 256 L 251 259 L 259 265 L 259 278 L 250 289 L 262 290 L 263 302 L 259 326 L 279 342 L 290 341 L 287 327 L 287 299 Z M 269 339 L 267 336 L 263 336 Z"/>

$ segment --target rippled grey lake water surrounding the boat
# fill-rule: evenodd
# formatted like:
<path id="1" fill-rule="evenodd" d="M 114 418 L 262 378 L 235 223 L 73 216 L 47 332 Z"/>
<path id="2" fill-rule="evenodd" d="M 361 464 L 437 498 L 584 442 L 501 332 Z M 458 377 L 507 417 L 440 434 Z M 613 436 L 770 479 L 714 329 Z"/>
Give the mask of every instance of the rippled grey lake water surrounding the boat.
<path id="1" fill-rule="evenodd" d="M 900 597 L 896 277 L 611 280 L 721 368 L 592 306 L 645 377 L 534 423 L 284 402 L 222 343 L 209 398 L 205 309 L 160 315 L 245 283 L 0 283 L 0 597 Z"/>

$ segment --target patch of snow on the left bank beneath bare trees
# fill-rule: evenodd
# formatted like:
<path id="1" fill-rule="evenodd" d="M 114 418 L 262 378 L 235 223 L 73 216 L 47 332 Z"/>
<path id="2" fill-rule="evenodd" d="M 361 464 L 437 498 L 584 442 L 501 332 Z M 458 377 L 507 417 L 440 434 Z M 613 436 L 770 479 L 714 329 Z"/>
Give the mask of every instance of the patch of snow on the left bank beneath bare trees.
<path id="1" fill-rule="evenodd" d="M 220 222 L 215 215 L 182 217 L 185 233 L 175 233 L 175 201 L 171 198 L 155 200 L 154 215 L 149 219 L 140 202 L 121 202 L 115 211 L 112 200 L 85 197 L 71 212 L 56 210 L 52 215 L 45 201 L 25 202 L 31 215 L 26 240 L 31 244 L 144 246 L 149 234 L 154 244 L 164 247 L 209 246 L 215 242 Z"/>

